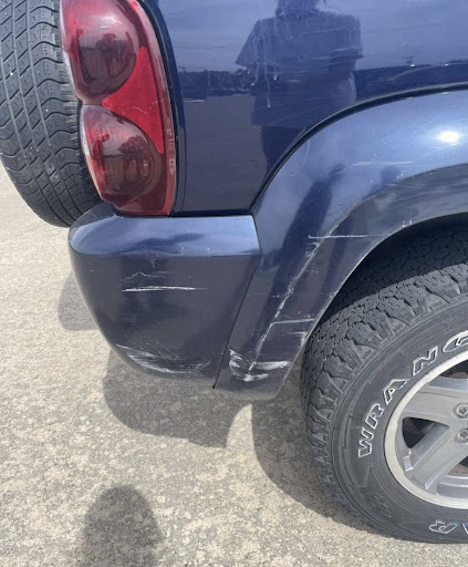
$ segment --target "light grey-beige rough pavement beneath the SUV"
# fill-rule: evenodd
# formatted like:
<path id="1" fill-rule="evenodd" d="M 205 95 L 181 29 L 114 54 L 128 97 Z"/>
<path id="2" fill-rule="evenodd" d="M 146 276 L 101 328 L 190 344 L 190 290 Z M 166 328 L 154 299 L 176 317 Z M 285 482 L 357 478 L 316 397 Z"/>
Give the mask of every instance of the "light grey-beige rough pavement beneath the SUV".
<path id="1" fill-rule="evenodd" d="M 1 566 L 466 565 L 468 546 L 384 537 L 330 502 L 298 368 L 254 404 L 125 368 L 80 298 L 66 230 L 3 171 L 0 188 Z"/>

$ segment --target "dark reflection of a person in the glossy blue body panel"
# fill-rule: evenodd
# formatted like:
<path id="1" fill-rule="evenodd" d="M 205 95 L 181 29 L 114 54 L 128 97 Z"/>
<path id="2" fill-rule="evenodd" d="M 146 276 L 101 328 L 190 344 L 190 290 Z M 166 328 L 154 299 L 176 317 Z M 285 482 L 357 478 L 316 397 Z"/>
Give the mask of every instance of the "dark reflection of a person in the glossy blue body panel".
<path id="1" fill-rule="evenodd" d="M 279 0 L 275 16 L 256 23 L 237 60 L 251 75 L 253 123 L 262 126 L 269 169 L 299 132 L 356 99 L 360 23 L 318 3 Z"/>

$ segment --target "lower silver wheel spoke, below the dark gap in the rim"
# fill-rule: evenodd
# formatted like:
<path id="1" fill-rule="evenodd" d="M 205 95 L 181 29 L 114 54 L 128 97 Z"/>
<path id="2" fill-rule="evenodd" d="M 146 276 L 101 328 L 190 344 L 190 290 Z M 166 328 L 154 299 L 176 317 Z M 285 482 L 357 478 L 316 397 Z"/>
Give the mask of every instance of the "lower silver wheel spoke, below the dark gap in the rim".
<path id="1" fill-rule="evenodd" d="M 468 456 L 468 444 L 459 443 L 457 433 L 453 427 L 435 423 L 403 457 L 407 477 L 436 494 L 439 482 Z"/>

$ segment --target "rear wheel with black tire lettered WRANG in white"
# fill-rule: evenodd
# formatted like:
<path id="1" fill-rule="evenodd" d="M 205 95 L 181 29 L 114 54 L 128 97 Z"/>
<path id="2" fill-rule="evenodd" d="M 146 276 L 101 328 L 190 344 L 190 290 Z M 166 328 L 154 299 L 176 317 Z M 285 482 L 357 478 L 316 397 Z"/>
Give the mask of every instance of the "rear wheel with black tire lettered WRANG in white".
<path id="1" fill-rule="evenodd" d="M 352 514 L 407 539 L 468 543 L 461 492 L 468 444 L 458 437 L 458 431 L 468 436 L 468 409 L 456 413 L 465 398 L 468 408 L 467 258 L 468 233 L 444 231 L 368 260 L 329 309 L 303 360 L 302 400 L 319 476 Z M 436 383 L 430 380 L 449 380 L 461 389 L 460 400 L 438 408 L 429 399 L 430 412 L 446 412 L 440 421 L 422 419 L 423 410 L 403 420 L 422 384 Z M 408 426 L 420 427 L 415 441 L 403 434 Z M 449 461 L 440 458 L 440 471 L 419 485 L 418 471 L 426 474 L 429 461 L 416 461 L 425 446 L 416 449 L 417 442 L 429 446 L 437 427 L 461 451 L 462 464 L 446 474 Z M 447 478 L 455 488 L 444 485 Z"/>

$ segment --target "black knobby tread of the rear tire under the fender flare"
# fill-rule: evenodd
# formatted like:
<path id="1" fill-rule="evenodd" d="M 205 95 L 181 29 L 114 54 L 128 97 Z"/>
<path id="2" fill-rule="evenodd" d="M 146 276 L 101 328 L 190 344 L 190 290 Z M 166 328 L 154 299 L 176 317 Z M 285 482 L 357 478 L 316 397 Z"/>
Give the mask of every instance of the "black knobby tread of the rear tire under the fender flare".
<path id="1" fill-rule="evenodd" d="M 336 502 L 374 527 L 341 486 L 332 460 L 343 392 L 353 386 L 364 364 L 415 320 L 467 295 L 467 258 L 468 233 L 458 230 L 419 236 L 375 256 L 346 282 L 308 342 L 301 399 L 315 468 Z M 407 537 L 397 526 L 378 528 Z"/>

